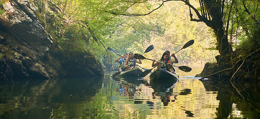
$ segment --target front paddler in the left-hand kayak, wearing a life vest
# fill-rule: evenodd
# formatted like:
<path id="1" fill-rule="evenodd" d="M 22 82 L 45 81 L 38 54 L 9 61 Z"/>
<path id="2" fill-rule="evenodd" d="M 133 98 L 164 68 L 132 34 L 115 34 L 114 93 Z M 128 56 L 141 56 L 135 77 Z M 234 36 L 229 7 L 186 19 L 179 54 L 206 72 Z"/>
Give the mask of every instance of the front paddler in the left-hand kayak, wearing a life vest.
<path id="1" fill-rule="evenodd" d="M 142 64 L 142 61 L 139 59 L 135 60 L 134 53 L 130 51 L 127 59 L 125 60 L 125 64 L 124 64 L 124 67 L 127 67 L 126 71 L 136 68 L 138 66 L 138 64 L 136 64 L 136 63 Z"/>

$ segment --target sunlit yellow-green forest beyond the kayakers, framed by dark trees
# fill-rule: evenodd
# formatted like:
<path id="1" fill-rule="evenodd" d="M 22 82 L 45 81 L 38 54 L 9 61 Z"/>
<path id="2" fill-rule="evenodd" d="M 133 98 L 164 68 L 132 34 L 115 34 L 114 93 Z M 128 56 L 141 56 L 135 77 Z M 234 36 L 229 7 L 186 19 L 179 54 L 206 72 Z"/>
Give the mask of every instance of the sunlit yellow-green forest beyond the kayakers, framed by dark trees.
<path id="1" fill-rule="evenodd" d="M 121 0 L 50 2 L 60 10 L 60 14 L 52 13 L 54 20 L 45 24 L 50 33 L 57 36 L 56 44 L 64 49 L 90 51 L 104 66 L 110 67 L 111 63 L 118 66 L 114 62 L 118 56 L 107 52 L 107 47 L 123 55 L 130 51 L 142 54 L 148 46 L 154 45 L 154 50 L 145 57 L 159 60 L 166 50 L 176 52 L 192 39 L 195 41 L 192 47 L 176 54 L 180 64 L 204 65 L 216 61 L 214 57 L 218 52 L 212 30 L 203 22 L 190 21 L 189 8 L 184 2 L 166 2 L 148 15 L 119 14 L 126 11 L 147 13 L 161 5 L 160 0 L 148 0 L 136 5 Z M 199 7 L 197 1 L 190 2 Z M 151 61 L 143 60 L 143 63 L 150 64 Z"/>

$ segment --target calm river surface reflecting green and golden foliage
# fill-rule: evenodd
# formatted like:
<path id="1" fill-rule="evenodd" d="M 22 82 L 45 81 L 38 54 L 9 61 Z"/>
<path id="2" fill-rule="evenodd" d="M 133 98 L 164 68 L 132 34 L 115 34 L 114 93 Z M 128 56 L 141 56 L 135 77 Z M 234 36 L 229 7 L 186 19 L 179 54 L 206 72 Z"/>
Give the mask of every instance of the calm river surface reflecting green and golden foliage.
<path id="1" fill-rule="evenodd" d="M 256 98 L 230 85 L 203 84 L 194 77 L 203 67 L 190 67 L 189 73 L 175 68 L 178 82 L 159 85 L 149 75 L 1 82 L 0 119 L 259 118 L 260 103 L 248 100 Z"/>

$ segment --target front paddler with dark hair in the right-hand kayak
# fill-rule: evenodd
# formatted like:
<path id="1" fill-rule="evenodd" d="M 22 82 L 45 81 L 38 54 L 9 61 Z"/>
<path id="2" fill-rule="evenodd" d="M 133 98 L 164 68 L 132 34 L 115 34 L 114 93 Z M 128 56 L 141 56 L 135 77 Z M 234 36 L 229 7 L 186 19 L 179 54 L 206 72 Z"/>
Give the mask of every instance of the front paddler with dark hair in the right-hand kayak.
<path id="1" fill-rule="evenodd" d="M 173 65 L 171 63 L 171 60 L 169 60 L 169 54 L 167 52 L 164 52 L 162 58 L 160 60 L 158 60 L 158 61 L 165 62 L 165 63 L 155 62 L 155 60 L 153 60 L 152 67 L 158 65 L 157 68 L 163 68 L 165 70 L 170 71 L 171 73 L 174 73 Z"/>

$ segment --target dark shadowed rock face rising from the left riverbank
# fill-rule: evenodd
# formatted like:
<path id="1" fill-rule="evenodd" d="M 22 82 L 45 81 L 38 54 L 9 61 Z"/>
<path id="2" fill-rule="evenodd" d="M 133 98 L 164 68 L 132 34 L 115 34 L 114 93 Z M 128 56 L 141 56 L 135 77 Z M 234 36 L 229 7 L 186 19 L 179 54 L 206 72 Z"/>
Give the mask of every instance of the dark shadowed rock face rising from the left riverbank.
<path id="1" fill-rule="evenodd" d="M 36 17 L 38 8 L 31 0 L 9 0 L 1 9 L 1 78 L 11 74 L 12 78 L 47 79 L 103 75 L 100 62 L 86 51 L 66 51 L 77 53 L 78 59 L 65 60 L 65 52 L 55 48 L 52 36 Z"/>

